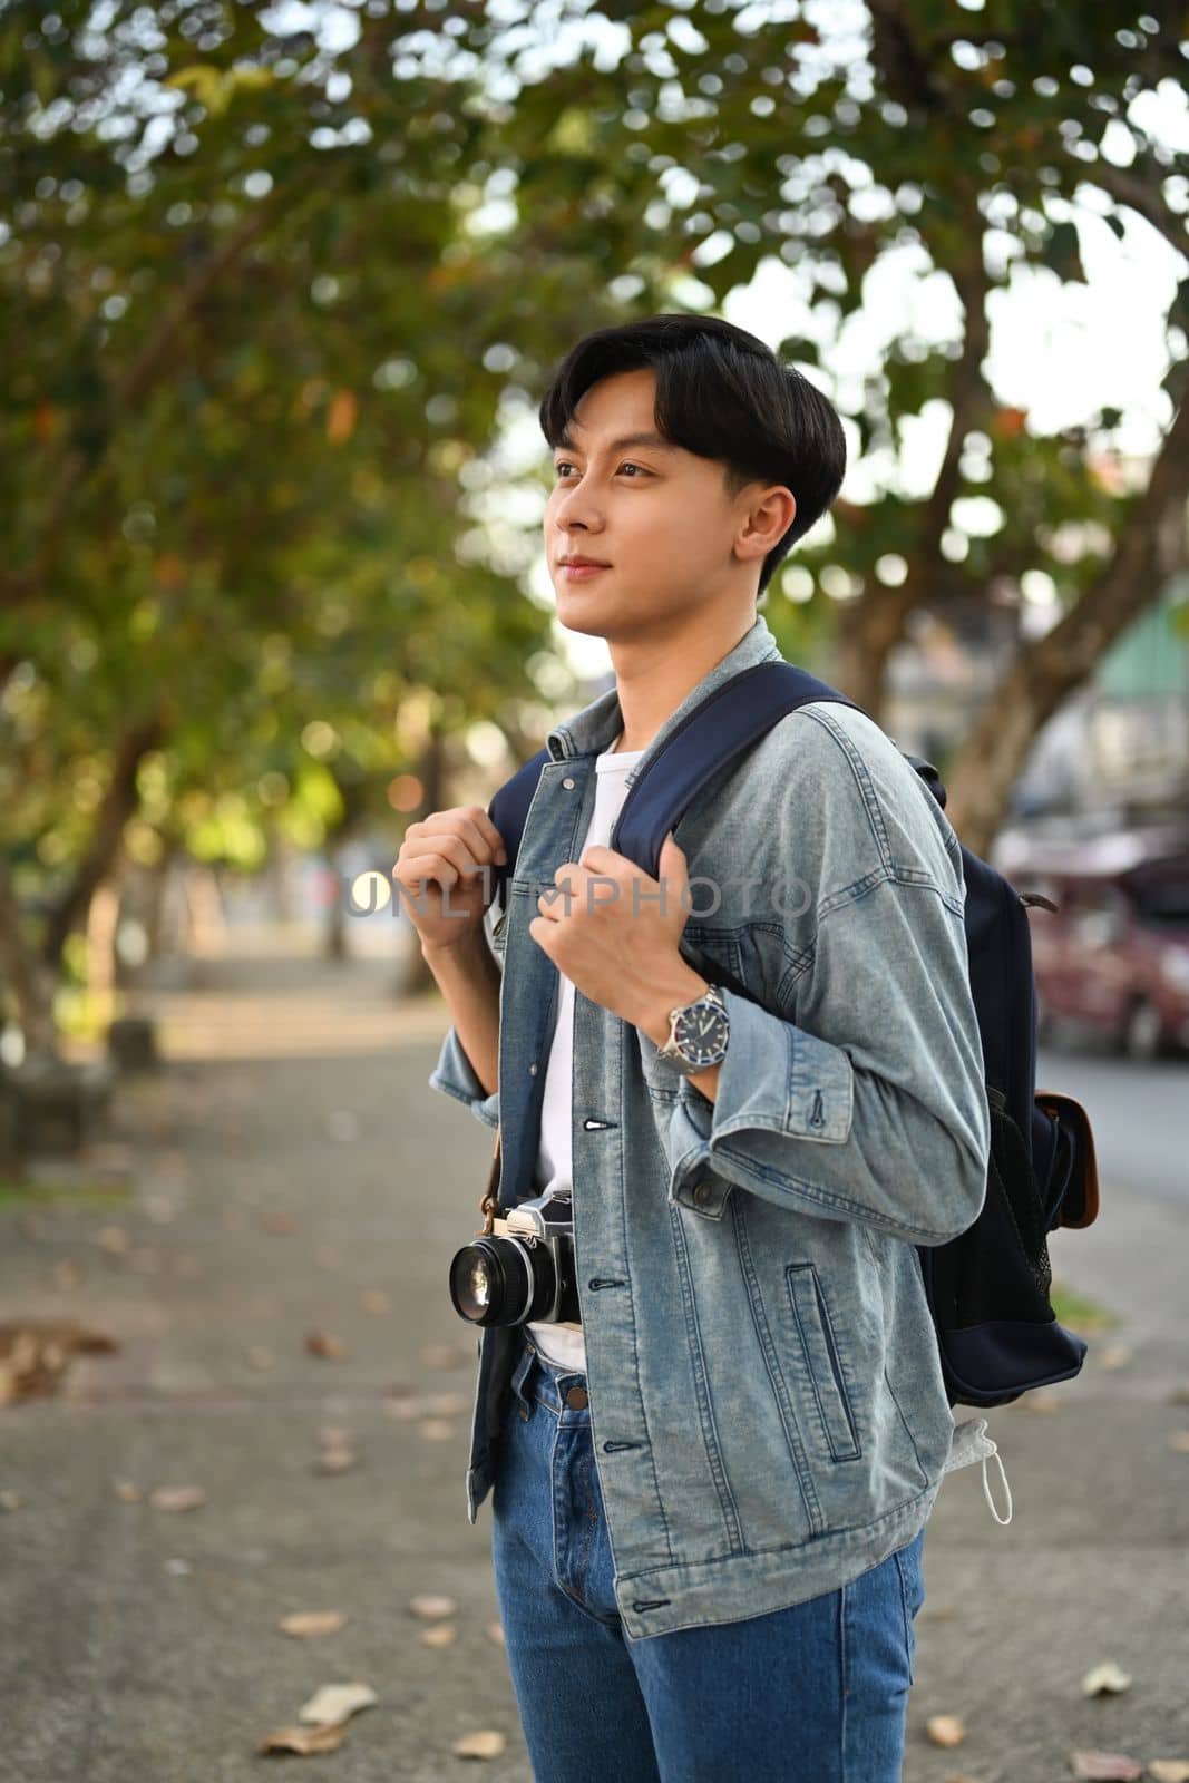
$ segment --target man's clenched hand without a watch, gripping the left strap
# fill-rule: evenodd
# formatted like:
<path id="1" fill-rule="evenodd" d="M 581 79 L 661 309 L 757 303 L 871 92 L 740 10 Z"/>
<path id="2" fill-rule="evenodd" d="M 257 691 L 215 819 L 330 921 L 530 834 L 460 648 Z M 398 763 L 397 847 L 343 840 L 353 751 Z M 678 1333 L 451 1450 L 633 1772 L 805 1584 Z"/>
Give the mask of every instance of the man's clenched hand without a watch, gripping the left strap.
<path id="1" fill-rule="evenodd" d="M 506 859 L 503 838 L 481 804 L 433 811 L 408 826 L 392 881 L 422 949 L 456 947 L 478 934 L 496 895 L 492 868 Z"/>

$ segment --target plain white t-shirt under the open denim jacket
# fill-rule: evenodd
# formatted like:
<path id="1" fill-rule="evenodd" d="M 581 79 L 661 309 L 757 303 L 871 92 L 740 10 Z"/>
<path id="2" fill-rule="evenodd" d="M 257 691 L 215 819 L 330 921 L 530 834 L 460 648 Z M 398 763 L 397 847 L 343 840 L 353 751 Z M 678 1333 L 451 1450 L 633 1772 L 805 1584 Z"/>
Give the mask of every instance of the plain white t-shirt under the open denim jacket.
<path id="1" fill-rule="evenodd" d="M 622 736 L 619 738 L 622 740 Z M 624 785 L 629 768 L 636 765 L 644 749 L 619 752 L 608 749 L 595 758 L 595 806 L 590 817 L 586 840 L 574 856 L 583 858 L 585 849 L 606 849 L 611 843 L 611 829 L 620 813 L 627 786 Z M 540 1111 L 540 1150 L 537 1154 L 538 1195 L 558 1189 L 574 1189 L 578 1196 L 581 1186 L 574 1186 L 574 984 L 563 972 L 558 974 L 558 1020 L 549 1048 L 545 1068 L 545 1091 Z M 544 1357 L 558 1362 L 574 1373 L 586 1371 L 586 1343 L 581 1332 L 567 1330 L 565 1325 L 529 1325 L 533 1341 Z"/>

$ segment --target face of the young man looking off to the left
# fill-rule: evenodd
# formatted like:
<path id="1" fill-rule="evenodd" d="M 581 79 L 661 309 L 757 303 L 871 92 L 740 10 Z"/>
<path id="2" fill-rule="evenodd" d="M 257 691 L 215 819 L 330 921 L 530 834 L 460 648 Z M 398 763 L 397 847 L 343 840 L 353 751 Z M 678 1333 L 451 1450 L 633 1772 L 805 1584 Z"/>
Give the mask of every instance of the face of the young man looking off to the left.
<path id="1" fill-rule="evenodd" d="M 544 530 L 558 619 L 608 642 L 672 633 L 738 592 L 733 542 L 758 494 L 749 485 L 729 501 L 718 460 L 660 440 L 654 394 L 647 367 L 603 378 L 578 405 L 572 446 L 553 455 Z M 615 444 L 636 433 L 651 439 Z M 608 567 L 572 574 L 567 556 Z M 761 563 L 745 565 L 756 581 Z"/>

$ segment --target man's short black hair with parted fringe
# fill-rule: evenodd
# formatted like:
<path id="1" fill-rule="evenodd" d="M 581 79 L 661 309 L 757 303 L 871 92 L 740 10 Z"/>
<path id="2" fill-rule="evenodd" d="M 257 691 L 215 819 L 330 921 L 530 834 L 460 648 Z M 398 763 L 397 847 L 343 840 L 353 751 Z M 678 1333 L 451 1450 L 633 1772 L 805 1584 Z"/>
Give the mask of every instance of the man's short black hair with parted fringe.
<path id="1" fill-rule="evenodd" d="M 834 407 L 745 328 L 717 316 L 649 316 L 595 328 L 570 348 L 540 405 L 549 446 L 556 451 L 565 442 L 594 383 L 642 366 L 656 373 L 656 430 L 699 458 L 718 458 L 727 499 L 756 480 L 783 483 L 795 496 L 793 524 L 759 571 L 763 594 L 841 487 L 847 440 Z"/>

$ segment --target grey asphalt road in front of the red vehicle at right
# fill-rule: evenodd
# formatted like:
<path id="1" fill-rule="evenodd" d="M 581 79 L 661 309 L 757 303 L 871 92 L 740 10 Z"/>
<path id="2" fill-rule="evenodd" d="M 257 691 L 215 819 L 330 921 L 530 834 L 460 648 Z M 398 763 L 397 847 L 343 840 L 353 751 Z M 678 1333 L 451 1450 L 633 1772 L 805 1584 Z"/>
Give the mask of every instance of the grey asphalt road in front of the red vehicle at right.
<path id="1" fill-rule="evenodd" d="M 1036 1082 L 1084 1105 L 1103 1180 L 1189 1207 L 1187 1059 L 1139 1064 L 1046 1047 L 1037 1059 Z"/>

